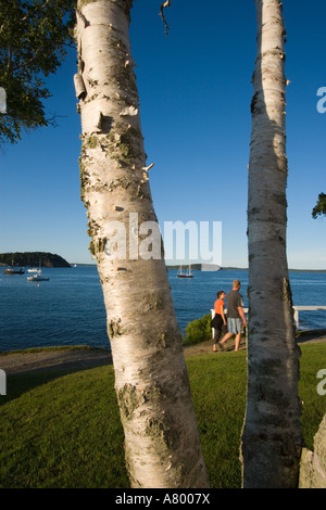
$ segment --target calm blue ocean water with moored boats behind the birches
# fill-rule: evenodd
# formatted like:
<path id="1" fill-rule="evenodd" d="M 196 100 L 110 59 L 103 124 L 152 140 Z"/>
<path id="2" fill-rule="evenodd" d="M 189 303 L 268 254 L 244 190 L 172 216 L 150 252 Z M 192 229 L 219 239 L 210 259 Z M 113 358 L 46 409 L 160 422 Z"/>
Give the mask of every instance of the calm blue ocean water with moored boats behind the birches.
<path id="1" fill-rule="evenodd" d="M 27 282 L 22 276 L 0 275 L 0 350 L 53 346 L 110 347 L 105 309 L 96 267 L 43 268 L 50 281 Z M 248 271 L 193 271 L 180 280 L 168 270 L 175 311 L 184 332 L 191 320 L 210 314 L 218 290 L 241 281 L 247 303 Z M 326 306 L 326 272 L 291 272 L 294 305 Z M 326 328 L 326 311 L 300 311 L 300 329 Z"/>

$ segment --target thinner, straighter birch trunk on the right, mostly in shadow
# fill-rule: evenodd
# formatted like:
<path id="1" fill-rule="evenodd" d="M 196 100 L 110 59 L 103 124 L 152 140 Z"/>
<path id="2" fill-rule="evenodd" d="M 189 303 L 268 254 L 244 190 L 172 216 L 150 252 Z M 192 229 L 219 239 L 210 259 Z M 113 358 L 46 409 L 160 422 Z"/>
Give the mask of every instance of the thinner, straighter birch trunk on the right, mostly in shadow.
<path id="1" fill-rule="evenodd" d="M 297 487 L 300 349 L 286 255 L 285 28 L 279 0 L 255 0 L 258 55 L 249 164 L 248 395 L 243 487 Z"/>

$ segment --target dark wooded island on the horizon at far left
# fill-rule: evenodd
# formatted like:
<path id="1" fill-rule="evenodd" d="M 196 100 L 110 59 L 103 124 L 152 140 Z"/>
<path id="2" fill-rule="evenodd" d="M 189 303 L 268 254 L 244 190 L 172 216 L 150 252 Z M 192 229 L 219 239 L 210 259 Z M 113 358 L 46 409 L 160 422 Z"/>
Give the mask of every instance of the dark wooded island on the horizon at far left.
<path id="1" fill-rule="evenodd" d="M 48 252 L 0 253 L 0 266 L 71 267 L 60 255 Z"/>

